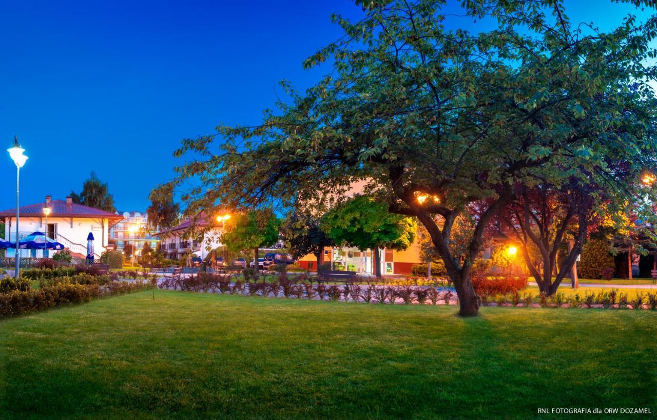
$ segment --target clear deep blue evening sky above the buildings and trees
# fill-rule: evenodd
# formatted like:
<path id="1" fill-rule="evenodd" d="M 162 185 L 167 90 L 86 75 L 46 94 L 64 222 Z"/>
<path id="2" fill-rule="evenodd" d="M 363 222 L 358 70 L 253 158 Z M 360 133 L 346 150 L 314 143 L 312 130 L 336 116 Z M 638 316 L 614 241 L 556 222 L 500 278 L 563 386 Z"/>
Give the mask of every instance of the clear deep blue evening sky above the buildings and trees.
<path id="1" fill-rule="evenodd" d="M 648 13 L 566 5 L 573 22 L 602 29 Z M 330 71 L 302 62 L 341 35 L 332 12 L 361 16 L 348 0 L 0 0 L 0 146 L 18 135 L 30 157 L 21 205 L 79 192 L 93 170 L 119 210 L 145 210 L 152 187 L 181 164 L 171 156 L 181 139 L 256 124 L 281 95 L 279 80 L 305 89 Z M 0 209 L 16 200 L 7 147 Z"/>

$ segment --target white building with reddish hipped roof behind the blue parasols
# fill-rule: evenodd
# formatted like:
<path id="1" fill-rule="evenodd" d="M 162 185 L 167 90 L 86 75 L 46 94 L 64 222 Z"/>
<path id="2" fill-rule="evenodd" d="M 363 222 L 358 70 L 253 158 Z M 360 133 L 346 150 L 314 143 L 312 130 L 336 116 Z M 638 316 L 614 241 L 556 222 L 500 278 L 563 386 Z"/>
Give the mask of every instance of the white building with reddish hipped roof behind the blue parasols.
<path id="1" fill-rule="evenodd" d="M 48 225 L 44 208 L 50 209 Z M 100 258 L 109 241 L 109 233 L 112 226 L 123 220 L 123 216 L 74 204 L 71 197 L 64 200 L 51 200 L 51 196 L 45 197 L 45 202 L 38 202 L 28 206 L 21 206 L 20 221 L 16 229 L 16 209 L 11 208 L 0 212 L 0 218 L 5 220 L 5 240 L 16 242 L 16 231 L 18 239 L 22 239 L 33 232 L 46 232 L 49 238 L 64 245 L 73 254 L 74 258 L 85 258 L 87 255 L 87 236 L 89 232 L 94 237 L 94 254 Z M 16 250 L 8 249 L 7 256 L 14 257 Z M 48 250 L 49 257 L 57 251 Z M 22 249 L 20 256 L 39 258 L 45 256 L 44 250 Z"/>

